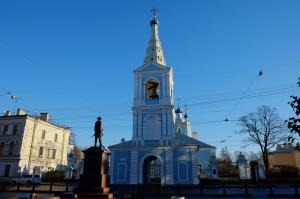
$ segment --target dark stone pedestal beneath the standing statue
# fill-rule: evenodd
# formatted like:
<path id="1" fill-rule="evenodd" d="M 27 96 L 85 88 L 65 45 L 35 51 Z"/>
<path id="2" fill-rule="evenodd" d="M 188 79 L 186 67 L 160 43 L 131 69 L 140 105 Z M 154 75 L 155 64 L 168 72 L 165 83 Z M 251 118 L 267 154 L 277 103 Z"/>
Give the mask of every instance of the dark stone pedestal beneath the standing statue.
<path id="1" fill-rule="evenodd" d="M 100 147 L 91 147 L 83 153 L 83 173 L 74 193 L 79 199 L 113 198 L 108 188 L 108 151 Z"/>

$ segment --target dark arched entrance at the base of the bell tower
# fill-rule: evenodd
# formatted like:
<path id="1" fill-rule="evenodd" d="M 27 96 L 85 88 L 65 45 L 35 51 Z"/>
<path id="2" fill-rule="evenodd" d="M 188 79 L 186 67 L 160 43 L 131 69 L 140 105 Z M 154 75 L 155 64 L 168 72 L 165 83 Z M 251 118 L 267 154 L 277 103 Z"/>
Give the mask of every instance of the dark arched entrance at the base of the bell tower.
<path id="1" fill-rule="evenodd" d="M 160 166 L 160 160 L 155 156 L 149 156 L 144 160 L 144 184 L 160 184 Z"/>

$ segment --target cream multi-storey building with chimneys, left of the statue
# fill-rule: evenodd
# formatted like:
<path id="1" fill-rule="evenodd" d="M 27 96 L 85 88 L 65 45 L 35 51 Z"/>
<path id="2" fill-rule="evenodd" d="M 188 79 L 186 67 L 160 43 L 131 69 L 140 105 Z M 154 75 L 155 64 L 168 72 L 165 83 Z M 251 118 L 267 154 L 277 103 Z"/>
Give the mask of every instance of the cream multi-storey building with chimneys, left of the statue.
<path id="1" fill-rule="evenodd" d="M 64 169 L 70 134 L 70 128 L 50 122 L 48 113 L 7 111 L 0 116 L 0 176 Z"/>

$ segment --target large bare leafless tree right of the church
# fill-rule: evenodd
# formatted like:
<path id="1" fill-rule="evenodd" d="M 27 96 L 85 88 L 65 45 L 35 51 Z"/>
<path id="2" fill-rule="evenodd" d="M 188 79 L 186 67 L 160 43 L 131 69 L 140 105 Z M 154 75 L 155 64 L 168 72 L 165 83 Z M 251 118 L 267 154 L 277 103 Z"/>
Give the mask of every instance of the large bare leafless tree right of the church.
<path id="1" fill-rule="evenodd" d="M 270 149 L 287 139 L 286 123 L 282 121 L 275 108 L 260 106 L 256 112 L 248 113 L 239 118 L 241 133 L 249 135 L 249 141 L 260 148 L 266 176 L 268 176 Z"/>

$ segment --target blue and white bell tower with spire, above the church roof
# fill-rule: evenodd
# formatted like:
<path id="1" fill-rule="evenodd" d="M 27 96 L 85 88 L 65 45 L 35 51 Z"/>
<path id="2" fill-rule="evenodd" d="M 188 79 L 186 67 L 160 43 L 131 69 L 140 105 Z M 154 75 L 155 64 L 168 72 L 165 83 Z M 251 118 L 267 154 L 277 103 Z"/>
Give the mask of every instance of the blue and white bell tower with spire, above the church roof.
<path id="1" fill-rule="evenodd" d="M 158 35 L 157 10 L 144 64 L 133 71 L 133 135 L 136 146 L 168 145 L 174 136 L 173 70 L 168 67 Z"/>

